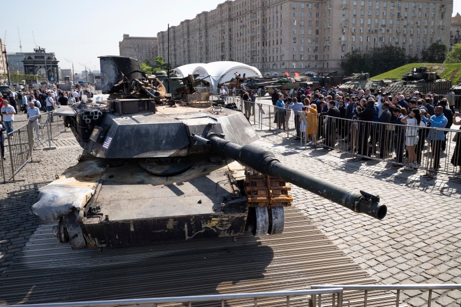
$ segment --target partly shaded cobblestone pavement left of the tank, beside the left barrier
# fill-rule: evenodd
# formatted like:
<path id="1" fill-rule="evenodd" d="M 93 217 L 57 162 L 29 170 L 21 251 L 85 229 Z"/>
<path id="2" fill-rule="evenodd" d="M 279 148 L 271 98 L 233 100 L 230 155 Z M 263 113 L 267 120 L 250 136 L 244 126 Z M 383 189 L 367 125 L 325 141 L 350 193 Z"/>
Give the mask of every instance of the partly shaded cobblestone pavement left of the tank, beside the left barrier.
<path id="1" fill-rule="evenodd" d="M 16 120 L 17 119 L 17 120 Z M 15 127 L 25 123 L 25 115 L 15 116 Z M 44 144 L 33 151 L 33 160 L 15 175 L 15 182 L 2 186 L 0 200 L 0 273 L 21 253 L 25 243 L 35 231 L 40 220 L 29 213 L 37 201 L 38 188 L 47 185 L 69 166 L 77 163 L 81 148 L 72 133 L 59 135 L 52 141 L 56 149 L 42 150 Z M 8 158 L 8 151 L 6 153 Z M 8 162 L 9 159 L 6 160 Z"/>

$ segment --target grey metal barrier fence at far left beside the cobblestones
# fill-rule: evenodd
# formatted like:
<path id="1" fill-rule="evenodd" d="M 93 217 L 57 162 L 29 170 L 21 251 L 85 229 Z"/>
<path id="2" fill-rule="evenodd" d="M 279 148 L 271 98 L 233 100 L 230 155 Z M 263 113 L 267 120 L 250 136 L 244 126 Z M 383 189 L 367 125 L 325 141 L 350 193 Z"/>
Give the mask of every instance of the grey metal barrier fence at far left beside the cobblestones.
<path id="1" fill-rule="evenodd" d="M 55 116 L 53 111 L 31 117 L 26 124 L 7 134 L 4 148 L 6 159 L 0 159 L 0 180 L 3 183 L 16 181 L 14 176 L 28 162 L 40 162 L 32 159 L 33 149 L 46 142 L 51 148 L 52 138 L 63 131 L 64 119 Z"/>

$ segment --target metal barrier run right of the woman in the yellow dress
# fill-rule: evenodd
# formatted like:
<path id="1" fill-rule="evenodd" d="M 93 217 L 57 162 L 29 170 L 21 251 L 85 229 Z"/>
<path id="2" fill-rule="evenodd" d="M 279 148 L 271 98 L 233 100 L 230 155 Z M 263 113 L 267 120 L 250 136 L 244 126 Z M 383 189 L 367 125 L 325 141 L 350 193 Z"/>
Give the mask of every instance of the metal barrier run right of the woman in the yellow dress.
<path id="1" fill-rule="evenodd" d="M 323 146 L 352 158 L 388 161 L 406 170 L 425 169 L 429 178 L 438 172 L 461 175 L 460 130 L 427 127 L 424 122 L 409 126 L 332 117 L 325 117 L 322 124 L 318 135 Z"/>

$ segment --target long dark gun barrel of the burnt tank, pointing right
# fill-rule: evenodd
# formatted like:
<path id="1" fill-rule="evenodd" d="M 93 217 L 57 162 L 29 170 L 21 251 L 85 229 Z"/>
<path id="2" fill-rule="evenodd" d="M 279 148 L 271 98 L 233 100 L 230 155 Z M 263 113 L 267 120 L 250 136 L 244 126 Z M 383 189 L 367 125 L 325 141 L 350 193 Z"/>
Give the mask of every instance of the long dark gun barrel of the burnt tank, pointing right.
<path id="1" fill-rule="evenodd" d="M 199 136 L 193 137 L 197 141 L 202 139 L 202 143 L 209 140 L 207 144 L 209 144 L 213 151 L 223 153 L 225 156 L 260 173 L 279 177 L 334 203 L 349 208 L 354 212 L 365 213 L 379 220 L 382 220 L 386 216 L 387 207 L 379 203 L 379 196 L 364 191 L 350 191 L 349 189 L 338 187 L 318 177 L 286 166 L 275 158 L 274 153 L 264 148 L 252 144 L 240 146 L 212 133 L 208 134 L 206 139 Z"/>

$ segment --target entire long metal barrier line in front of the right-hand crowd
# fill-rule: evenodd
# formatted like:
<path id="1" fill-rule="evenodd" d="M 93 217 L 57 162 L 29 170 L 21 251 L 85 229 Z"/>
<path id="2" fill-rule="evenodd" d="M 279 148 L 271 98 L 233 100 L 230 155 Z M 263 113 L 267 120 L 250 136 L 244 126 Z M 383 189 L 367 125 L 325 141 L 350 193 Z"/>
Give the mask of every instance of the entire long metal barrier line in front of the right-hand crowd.
<path id="1" fill-rule="evenodd" d="M 437 173 L 461 176 L 461 130 L 319 117 L 303 112 L 306 125 L 290 109 L 236 97 L 228 97 L 227 104 L 235 104 L 259 129 L 276 129 L 286 133 L 287 138 L 298 139 L 299 149 L 324 146 L 349 153 L 352 159 L 388 161 L 406 170 L 424 169 L 428 178 Z"/>

